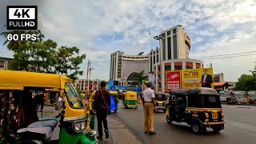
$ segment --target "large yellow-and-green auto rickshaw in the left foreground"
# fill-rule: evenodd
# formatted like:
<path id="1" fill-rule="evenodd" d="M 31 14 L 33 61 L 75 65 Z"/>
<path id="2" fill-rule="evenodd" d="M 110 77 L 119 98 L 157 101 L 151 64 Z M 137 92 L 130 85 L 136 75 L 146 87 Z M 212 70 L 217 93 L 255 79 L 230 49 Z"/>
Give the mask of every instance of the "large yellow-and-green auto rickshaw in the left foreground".
<path id="1" fill-rule="evenodd" d="M 0 143 L 98 143 L 96 131 L 90 130 L 91 106 L 82 104 L 71 82 L 59 74 L 0 70 Z M 52 113 L 57 110 L 56 117 L 39 119 L 30 90 L 46 88 L 58 89 L 61 98 L 55 107 L 48 106 Z M 58 140 L 51 141 L 57 126 Z"/>

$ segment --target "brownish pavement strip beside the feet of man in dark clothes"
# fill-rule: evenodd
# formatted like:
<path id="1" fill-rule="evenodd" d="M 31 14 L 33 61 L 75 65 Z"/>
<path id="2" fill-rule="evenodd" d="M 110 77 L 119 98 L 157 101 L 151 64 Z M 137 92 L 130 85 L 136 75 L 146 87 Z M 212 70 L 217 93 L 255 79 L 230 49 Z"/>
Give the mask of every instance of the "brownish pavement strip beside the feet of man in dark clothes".
<path id="1" fill-rule="evenodd" d="M 96 119 L 95 119 L 96 120 Z M 135 135 L 128 130 L 123 122 L 118 119 L 115 114 L 110 114 L 107 117 L 110 138 L 106 139 L 103 135 L 102 140 L 98 140 L 98 144 L 140 144 L 142 142 L 138 141 Z M 97 121 L 95 121 L 97 123 Z M 95 125 L 95 130 L 97 130 L 97 124 Z M 98 133 L 97 133 L 98 134 Z M 104 133 L 103 133 L 104 134 Z"/>

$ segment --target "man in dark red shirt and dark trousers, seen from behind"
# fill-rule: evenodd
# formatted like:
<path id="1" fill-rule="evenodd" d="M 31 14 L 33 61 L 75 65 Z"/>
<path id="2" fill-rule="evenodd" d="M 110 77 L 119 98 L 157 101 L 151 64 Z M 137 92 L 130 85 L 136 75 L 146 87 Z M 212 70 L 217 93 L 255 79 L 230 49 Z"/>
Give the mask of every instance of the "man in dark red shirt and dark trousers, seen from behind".
<path id="1" fill-rule="evenodd" d="M 94 110 L 97 112 L 97 121 L 98 121 L 98 139 L 102 139 L 102 122 L 104 126 L 104 132 L 106 138 L 109 138 L 109 131 L 107 126 L 107 114 L 108 108 L 110 109 L 110 92 L 106 90 L 106 82 L 101 82 L 101 89 L 97 90 L 94 97 Z"/>

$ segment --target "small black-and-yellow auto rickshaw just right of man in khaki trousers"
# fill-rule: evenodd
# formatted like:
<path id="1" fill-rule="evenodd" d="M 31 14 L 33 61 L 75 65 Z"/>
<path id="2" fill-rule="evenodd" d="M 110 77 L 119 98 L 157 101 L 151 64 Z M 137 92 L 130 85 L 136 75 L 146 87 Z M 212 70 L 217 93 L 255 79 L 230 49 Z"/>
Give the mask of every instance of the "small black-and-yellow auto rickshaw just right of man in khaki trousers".
<path id="1" fill-rule="evenodd" d="M 162 110 L 163 112 L 166 112 L 166 100 L 167 100 L 167 95 L 164 92 L 161 91 L 155 91 L 155 106 L 157 110 Z"/>

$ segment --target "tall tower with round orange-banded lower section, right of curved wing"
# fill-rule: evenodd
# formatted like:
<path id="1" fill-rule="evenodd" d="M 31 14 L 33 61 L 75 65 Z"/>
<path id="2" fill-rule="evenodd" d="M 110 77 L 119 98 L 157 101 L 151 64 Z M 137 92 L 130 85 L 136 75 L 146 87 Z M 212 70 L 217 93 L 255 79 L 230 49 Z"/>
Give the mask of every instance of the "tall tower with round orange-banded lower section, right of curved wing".
<path id="1" fill-rule="evenodd" d="M 150 72 L 154 71 L 156 91 L 166 90 L 166 71 L 203 67 L 202 61 L 190 59 L 190 37 L 182 26 L 164 30 L 156 39 L 159 40 L 160 49 L 150 51 L 149 68 Z"/>

